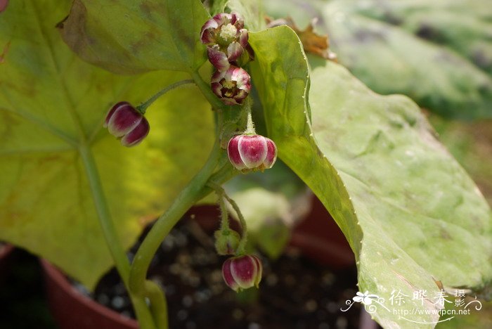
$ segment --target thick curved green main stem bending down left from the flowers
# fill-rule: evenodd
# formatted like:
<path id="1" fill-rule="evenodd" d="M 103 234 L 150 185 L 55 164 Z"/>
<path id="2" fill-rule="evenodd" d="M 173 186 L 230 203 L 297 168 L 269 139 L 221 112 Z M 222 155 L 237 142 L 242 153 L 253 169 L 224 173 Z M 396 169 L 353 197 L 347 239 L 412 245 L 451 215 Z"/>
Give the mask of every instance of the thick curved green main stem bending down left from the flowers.
<path id="1" fill-rule="evenodd" d="M 145 278 L 147 276 L 148 266 L 153 259 L 157 248 L 162 240 L 167 236 L 171 228 L 183 217 L 190 207 L 198 200 L 203 198 L 203 188 L 210 176 L 214 172 L 216 164 L 219 162 L 221 149 L 219 142 L 214 143 L 212 153 L 210 153 L 205 166 L 196 174 L 188 185 L 179 193 L 171 207 L 164 212 L 154 226 L 149 231 L 148 235 L 143 240 L 134 257 L 134 262 L 131 265 L 129 285 L 132 292 L 142 295 L 145 292 Z"/>

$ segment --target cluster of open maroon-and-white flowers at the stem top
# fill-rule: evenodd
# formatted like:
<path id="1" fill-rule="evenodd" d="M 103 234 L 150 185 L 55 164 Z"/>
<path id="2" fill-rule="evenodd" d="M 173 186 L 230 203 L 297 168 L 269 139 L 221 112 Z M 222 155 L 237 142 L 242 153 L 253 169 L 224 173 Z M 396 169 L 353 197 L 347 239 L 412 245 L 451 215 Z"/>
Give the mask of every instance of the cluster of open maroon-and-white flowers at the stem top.
<path id="1" fill-rule="evenodd" d="M 240 66 L 253 58 L 244 20 L 238 13 L 219 13 L 202 26 L 200 40 L 216 68 L 212 90 L 226 105 L 240 105 L 250 93 L 250 75 Z"/>

